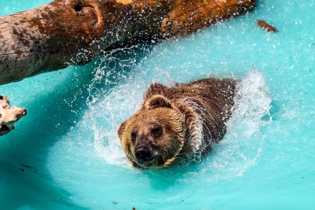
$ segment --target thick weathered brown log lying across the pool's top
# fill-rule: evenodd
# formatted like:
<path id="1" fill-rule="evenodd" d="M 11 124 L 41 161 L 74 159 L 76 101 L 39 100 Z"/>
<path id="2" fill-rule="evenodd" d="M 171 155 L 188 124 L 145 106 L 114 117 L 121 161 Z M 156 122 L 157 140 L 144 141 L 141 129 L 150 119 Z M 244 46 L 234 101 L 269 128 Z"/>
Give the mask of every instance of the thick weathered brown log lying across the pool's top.
<path id="1" fill-rule="evenodd" d="M 118 42 L 186 35 L 255 0 L 55 0 L 0 18 L 0 85 L 70 64 Z"/>

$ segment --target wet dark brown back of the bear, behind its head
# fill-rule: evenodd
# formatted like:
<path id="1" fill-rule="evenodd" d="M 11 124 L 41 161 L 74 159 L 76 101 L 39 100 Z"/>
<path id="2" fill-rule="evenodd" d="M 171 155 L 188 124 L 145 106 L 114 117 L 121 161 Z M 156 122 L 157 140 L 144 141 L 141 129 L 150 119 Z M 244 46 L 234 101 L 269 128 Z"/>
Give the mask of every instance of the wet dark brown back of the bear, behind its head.
<path id="1" fill-rule="evenodd" d="M 226 122 L 232 115 L 234 90 L 233 79 L 206 78 L 166 87 L 152 83 L 144 95 L 143 104 L 153 95 L 163 95 L 173 102 L 184 103 L 199 115 L 203 136 L 209 141 L 220 141 L 226 133 Z"/>

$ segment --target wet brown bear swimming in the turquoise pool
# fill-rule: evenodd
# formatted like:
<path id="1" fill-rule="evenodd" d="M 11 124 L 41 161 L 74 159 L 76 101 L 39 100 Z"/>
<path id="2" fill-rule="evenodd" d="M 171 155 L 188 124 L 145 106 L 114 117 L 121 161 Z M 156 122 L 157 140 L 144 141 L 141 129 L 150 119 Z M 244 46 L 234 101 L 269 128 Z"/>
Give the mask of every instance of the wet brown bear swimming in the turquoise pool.
<path id="1" fill-rule="evenodd" d="M 127 158 L 135 167 L 169 167 L 210 148 L 226 133 L 236 83 L 208 78 L 169 88 L 151 84 L 140 110 L 118 128 Z"/>

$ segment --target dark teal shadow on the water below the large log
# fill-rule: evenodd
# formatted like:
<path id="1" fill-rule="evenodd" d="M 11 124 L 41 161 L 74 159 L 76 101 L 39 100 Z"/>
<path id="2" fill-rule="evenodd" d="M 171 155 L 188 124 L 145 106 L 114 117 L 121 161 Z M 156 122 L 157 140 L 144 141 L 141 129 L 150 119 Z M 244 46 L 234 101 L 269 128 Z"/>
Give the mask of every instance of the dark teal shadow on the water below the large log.
<path id="1" fill-rule="evenodd" d="M 146 49 L 152 47 L 142 44 L 140 47 L 123 49 L 111 56 L 118 60 L 134 59 L 137 60 L 135 63 L 138 63 L 142 56 L 149 52 L 143 52 L 144 46 Z M 71 195 L 66 190 L 54 184 L 54 180 L 49 174 L 47 156 L 50 148 L 75 126 L 75 123 L 83 117 L 84 111 L 89 108 L 87 103 L 89 85 L 97 69 L 103 67 L 100 65 L 112 68 L 111 59 L 106 57 L 106 53 L 108 52 L 99 55 L 85 66 L 76 67 L 76 70 L 73 70 L 73 67 L 70 70 L 72 75 L 68 74 L 66 80 L 62 83 L 58 82 L 54 88 L 51 88 L 50 82 L 52 81 L 48 77 L 53 74 L 61 75 L 61 71 L 69 70 L 27 78 L 16 85 L 31 89 L 34 83 L 38 82 L 38 88 L 43 88 L 43 91 L 34 96 L 34 93 L 32 95 L 29 92 L 23 94 L 25 89 L 18 88 L 20 95 L 23 95 L 24 98 L 32 97 L 32 99 L 26 101 L 22 99 L 23 106 L 28 110 L 27 116 L 16 123 L 16 130 L 1 139 L 1 208 L 19 208 L 27 204 L 35 205 L 34 203 L 37 203 L 37 208 L 44 206 L 50 208 L 46 206 L 45 201 L 42 202 L 43 206 L 40 206 L 41 202 L 37 202 L 38 197 L 47 200 L 46 202 L 51 203 L 54 208 L 82 208 L 73 203 Z M 104 61 L 103 58 L 106 60 Z M 111 72 L 111 77 L 116 82 L 106 84 L 106 87 L 104 87 L 104 83 L 99 83 L 98 88 L 110 89 L 119 84 L 121 82 L 119 81 L 120 70 L 115 69 Z M 123 69 L 127 75 L 131 73 L 131 70 Z M 26 84 L 28 82 L 29 84 Z M 9 88 L 6 90 L 5 87 L 3 91 L 12 91 Z M 86 135 L 93 141 L 93 132 Z M 13 189 L 15 190 L 13 191 Z M 20 193 L 16 193 L 18 189 L 21 189 Z"/>

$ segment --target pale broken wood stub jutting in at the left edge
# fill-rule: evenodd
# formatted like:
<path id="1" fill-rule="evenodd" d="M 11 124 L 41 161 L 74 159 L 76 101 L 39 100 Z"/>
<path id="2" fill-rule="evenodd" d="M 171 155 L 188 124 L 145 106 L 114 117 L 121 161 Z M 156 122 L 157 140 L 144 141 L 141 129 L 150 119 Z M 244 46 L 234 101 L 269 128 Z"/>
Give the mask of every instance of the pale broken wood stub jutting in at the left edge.
<path id="1" fill-rule="evenodd" d="M 8 96 L 0 95 L 0 136 L 14 129 L 14 122 L 26 115 L 26 108 L 10 106 Z"/>

